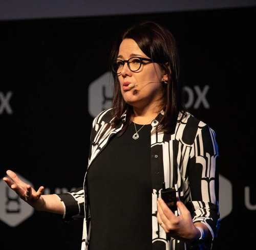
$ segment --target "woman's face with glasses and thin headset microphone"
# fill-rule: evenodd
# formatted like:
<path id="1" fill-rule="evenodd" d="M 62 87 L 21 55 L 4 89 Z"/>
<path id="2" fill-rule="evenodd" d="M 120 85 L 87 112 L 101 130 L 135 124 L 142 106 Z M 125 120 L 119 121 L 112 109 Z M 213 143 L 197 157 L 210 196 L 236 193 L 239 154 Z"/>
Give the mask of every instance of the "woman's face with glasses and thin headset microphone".
<path id="1" fill-rule="evenodd" d="M 118 59 L 128 60 L 134 56 L 148 58 L 148 56 L 141 51 L 135 40 L 125 38 L 120 44 Z M 163 73 L 159 64 L 148 63 L 147 61 L 144 62 L 146 64 L 142 64 L 140 70 L 137 72 L 132 72 L 127 66 L 127 63 L 125 63 L 121 74 L 118 76 L 124 101 L 139 108 L 159 104 L 161 100 L 157 99 L 161 98 L 163 90 L 163 83 L 161 83 Z M 125 86 L 127 83 L 136 83 L 138 85 L 129 89 Z"/>

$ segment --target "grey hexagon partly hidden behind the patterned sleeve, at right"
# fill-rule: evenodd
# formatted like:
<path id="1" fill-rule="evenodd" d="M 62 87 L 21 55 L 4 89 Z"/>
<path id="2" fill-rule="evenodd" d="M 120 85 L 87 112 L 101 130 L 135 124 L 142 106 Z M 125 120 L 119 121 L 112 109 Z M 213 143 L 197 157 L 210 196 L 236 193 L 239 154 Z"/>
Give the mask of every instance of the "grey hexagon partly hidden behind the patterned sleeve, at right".
<path id="1" fill-rule="evenodd" d="M 232 211 L 232 184 L 231 182 L 219 175 L 220 179 L 220 192 L 219 192 L 219 205 L 220 205 L 220 218 L 228 216 Z"/>

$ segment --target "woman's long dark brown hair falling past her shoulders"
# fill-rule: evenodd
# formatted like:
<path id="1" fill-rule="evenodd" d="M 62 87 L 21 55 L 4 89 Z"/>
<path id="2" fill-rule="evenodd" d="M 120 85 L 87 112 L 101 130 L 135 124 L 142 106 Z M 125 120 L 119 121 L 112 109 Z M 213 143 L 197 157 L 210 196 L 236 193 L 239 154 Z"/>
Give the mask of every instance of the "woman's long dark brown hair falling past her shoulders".
<path id="1" fill-rule="evenodd" d="M 164 72 L 168 75 L 168 84 L 163 85 L 162 107 L 164 116 L 159 125 L 159 130 L 173 132 L 178 119 L 179 111 L 182 111 L 181 95 L 179 86 L 179 55 L 176 40 L 170 31 L 156 22 L 144 21 L 127 29 L 121 39 L 114 46 L 111 53 L 111 61 L 118 56 L 119 46 L 123 39 L 131 38 L 136 41 L 139 48 L 145 55 L 150 57 L 153 62 L 157 62 Z M 115 127 L 120 122 L 120 117 L 126 110 L 126 123 L 124 130 L 129 125 L 133 108 L 123 100 L 118 76 L 114 76 L 114 98 L 112 115 L 115 117 L 111 126 Z"/>

